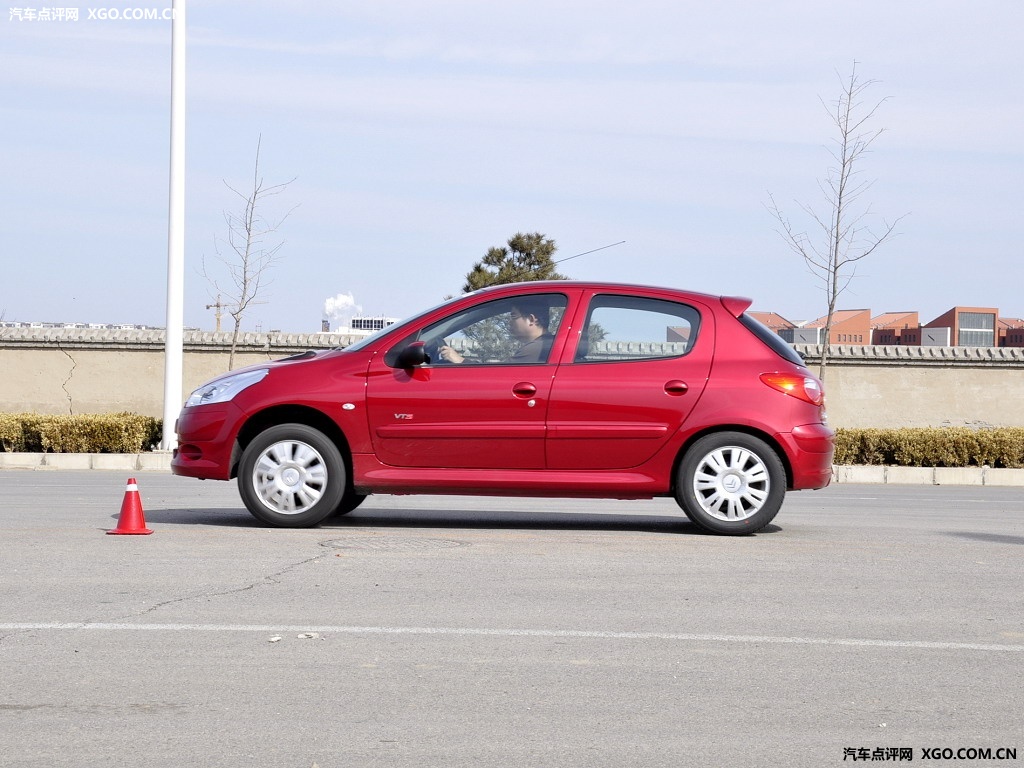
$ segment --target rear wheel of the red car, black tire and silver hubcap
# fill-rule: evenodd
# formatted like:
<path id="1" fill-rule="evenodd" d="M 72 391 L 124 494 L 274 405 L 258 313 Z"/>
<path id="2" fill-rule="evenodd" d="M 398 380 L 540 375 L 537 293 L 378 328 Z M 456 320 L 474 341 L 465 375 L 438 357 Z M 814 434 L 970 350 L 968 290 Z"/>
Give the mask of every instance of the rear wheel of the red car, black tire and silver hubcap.
<path id="1" fill-rule="evenodd" d="M 679 466 L 676 501 L 705 530 L 743 536 L 761 530 L 785 498 L 785 469 L 768 443 L 743 432 L 715 432 L 694 442 Z"/>

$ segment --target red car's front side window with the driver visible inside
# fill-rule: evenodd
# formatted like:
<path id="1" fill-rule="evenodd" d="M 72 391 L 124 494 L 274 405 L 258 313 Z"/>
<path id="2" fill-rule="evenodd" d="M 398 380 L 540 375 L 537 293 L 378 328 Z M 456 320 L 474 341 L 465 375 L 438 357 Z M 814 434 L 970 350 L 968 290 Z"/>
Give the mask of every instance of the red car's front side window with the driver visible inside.
<path id="1" fill-rule="evenodd" d="M 397 357 L 410 343 L 423 341 L 429 365 L 547 362 L 566 303 L 562 294 L 531 294 L 488 301 L 407 336 L 387 357 Z"/>

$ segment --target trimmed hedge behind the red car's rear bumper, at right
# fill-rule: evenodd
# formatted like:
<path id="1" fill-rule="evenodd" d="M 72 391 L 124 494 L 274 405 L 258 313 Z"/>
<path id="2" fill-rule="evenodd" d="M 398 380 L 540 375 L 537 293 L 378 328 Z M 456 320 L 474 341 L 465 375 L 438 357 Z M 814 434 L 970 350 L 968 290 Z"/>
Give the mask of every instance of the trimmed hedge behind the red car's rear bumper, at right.
<path id="1" fill-rule="evenodd" d="M 837 429 L 836 464 L 1024 467 L 1024 427 Z"/>

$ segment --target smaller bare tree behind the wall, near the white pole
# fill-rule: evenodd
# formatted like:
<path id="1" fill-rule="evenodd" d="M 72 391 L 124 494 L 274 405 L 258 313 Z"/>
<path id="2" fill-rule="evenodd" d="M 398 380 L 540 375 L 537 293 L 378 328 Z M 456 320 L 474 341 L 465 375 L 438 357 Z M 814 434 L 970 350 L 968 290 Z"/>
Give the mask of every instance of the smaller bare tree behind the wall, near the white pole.
<path id="1" fill-rule="evenodd" d="M 210 281 L 217 292 L 216 304 L 207 305 L 208 309 L 216 307 L 217 329 L 220 329 L 221 309 L 226 310 L 227 314 L 234 321 L 231 333 L 231 352 L 227 359 L 228 370 L 234 368 L 234 351 L 242 329 L 242 318 L 252 304 L 261 303 L 258 301 L 261 291 L 270 283 L 267 279 L 267 272 L 281 259 L 280 253 L 285 245 L 284 241 L 273 245 L 266 241 L 278 231 L 285 219 L 297 208 L 297 206 L 291 208 L 284 216 L 274 221 L 264 217 L 262 209 L 266 199 L 283 193 L 292 181 L 295 181 L 295 178 L 272 185 L 267 185 L 263 181 L 259 170 L 262 139 L 263 137 L 260 135 L 256 141 L 256 163 L 253 167 L 252 187 L 243 193 L 224 181 L 224 185 L 238 195 L 244 203 L 241 213 L 224 212 L 224 221 L 227 224 L 226 239 L 214 238 L 216 258 L 226 267 L 228 283 L 222 287 L 217 280 L 211 278 L 206 269 L 206 260 L 203 261 L 203 275 Z M 226 252 L 222 252 L 224 245 L 227 246 Z"/>

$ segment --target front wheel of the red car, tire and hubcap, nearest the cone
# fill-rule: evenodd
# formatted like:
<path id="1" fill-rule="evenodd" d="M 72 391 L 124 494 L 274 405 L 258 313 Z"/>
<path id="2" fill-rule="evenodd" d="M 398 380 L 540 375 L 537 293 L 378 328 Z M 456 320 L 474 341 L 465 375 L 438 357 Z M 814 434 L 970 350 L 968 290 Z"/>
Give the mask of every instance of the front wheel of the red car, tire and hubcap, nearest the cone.
<path id="1" fill-rule="evenodd" d="M 260 432 L 239 465 L 242 501 L 253 517 L 268 525 L 316 525 L 335 513 L 347 487 L 338 446 L 304 424 L 279 424 Z"/>

